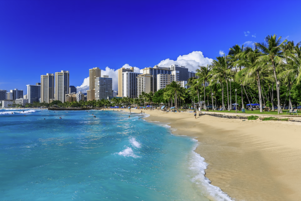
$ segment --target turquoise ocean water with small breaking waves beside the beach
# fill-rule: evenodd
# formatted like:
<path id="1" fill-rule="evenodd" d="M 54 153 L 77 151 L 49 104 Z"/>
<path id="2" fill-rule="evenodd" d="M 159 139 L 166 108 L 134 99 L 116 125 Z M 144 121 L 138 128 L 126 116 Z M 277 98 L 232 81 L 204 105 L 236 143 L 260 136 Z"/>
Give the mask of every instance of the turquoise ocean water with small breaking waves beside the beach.
<path id="1" fill-rule="evenodd" d="M 0 110 L 0 200 L 230 200 L 196 140 L 128 116 Z"/>

